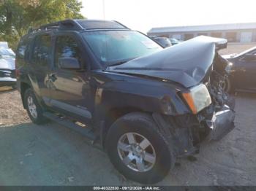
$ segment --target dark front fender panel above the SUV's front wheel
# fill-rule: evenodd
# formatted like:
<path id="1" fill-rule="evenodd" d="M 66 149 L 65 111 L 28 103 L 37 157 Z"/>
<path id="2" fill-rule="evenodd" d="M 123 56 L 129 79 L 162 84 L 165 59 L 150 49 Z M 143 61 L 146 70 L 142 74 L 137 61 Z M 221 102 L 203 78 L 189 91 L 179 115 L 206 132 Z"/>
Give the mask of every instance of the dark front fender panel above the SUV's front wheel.
<path id="1" fill-rule="evenodd" d="M 102 71 L 94 71 L 93 79 L 97 83 L 97 116 L 104 117 L 113 108 L 127 107 L 169 115 L 190 112 L 178 95 L 178 91 L 185 89 L 176 84 Z"/>

